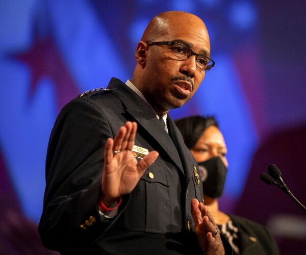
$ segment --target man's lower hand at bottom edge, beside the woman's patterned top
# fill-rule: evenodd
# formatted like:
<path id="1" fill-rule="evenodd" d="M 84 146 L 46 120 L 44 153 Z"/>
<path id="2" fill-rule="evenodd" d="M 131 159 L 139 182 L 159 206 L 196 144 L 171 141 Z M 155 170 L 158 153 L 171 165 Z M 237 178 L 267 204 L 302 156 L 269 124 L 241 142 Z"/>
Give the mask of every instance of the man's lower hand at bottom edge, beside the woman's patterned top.
<path id="1" fill-rule="evenodd" d="M 225 254 L 217 224 L 207 207 L 194 198 L 191 201 L 191 213 L 198 243 L 203 252 L 206 255 Z"/>

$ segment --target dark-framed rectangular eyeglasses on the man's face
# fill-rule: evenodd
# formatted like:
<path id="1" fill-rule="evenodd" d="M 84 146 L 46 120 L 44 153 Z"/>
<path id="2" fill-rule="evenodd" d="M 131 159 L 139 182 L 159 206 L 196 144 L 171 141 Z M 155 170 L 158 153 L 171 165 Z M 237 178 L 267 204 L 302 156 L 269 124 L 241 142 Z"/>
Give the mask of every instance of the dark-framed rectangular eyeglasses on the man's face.
<path id="1" fill-rule="evenodd" d="M 215 61 L 210 59 L 209 57 L 200 55 L 195 53 L 192 49 L 188 48 L 186 45 L 170 41 L 170 42 L 146 42 L 147 45 L 171 45 L 171 51 L 174 56 L 177 58 L 186 60 L 189 59 L 192 55 L 194 55 L 195 63 L 198 68 L 201 70 L 209 71 L 215 65 Z"/>

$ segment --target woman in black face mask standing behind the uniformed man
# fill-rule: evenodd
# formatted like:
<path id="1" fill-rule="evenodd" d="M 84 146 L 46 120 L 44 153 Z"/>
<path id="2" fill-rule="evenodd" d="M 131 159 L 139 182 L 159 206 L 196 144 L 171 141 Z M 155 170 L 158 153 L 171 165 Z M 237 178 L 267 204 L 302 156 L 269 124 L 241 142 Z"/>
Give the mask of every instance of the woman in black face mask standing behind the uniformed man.
<path id="1" fill-rule="evenodd" d="M 220 232 L 231 243 L 234 254 L 279 254 L 267 228 L 248 219 L 219 210 L 227 172 L 227 148 L 214 117 L 191 116 L 175 121 L 186 146 L 198 163 L 205 205 L 213 215 Z"/>

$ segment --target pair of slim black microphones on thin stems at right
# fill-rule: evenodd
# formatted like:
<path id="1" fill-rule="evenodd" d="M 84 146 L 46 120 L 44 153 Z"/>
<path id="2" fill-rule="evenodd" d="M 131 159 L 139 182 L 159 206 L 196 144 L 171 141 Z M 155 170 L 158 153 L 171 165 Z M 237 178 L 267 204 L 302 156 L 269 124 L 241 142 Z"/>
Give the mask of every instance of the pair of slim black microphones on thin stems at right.
<path id="1" fill-rule="evenodd" d="M 278 169 L 278 167 L 274 164 L 268 166 L 268 171 L 269 173 L 263 172 L 260 175 L 260 180 L 265 182 L 266 184 L 269 185 L 274 185 L 278 187 L 279 189 L 283 190 L 287 195 L 289 195 L 293 201 L 299 206 L 300 209 L 304 213 L 306 213 L 306 208 L 302 205 L 302 203 L 291 193 L 287 185 L 285 184 L 283 178 L 282 178 L 282 173 L 281 170 Z"/>

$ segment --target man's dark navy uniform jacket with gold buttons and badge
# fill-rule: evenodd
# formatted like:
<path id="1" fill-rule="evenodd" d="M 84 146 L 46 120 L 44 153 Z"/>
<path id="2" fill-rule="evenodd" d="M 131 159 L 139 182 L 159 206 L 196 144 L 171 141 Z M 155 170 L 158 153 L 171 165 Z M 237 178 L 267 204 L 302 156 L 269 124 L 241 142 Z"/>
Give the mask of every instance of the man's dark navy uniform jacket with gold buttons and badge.
<path id="1" fill-rule="evenodd" d="M 135 145 L 160 156 L 123 196 L 118 215 L 101 221 L 97 198 L 105 143 L 128 120 L 138 124 Z M 170 116 L 167 127 L 169 134 L 149 106 L 115 78 L 106 90 L 84 93 L 64 106 L 47 150 L 43 244 L 62 254 L 202 254 L 190 206 L 192 198 L 202 201 L 197 164 Z"/>

